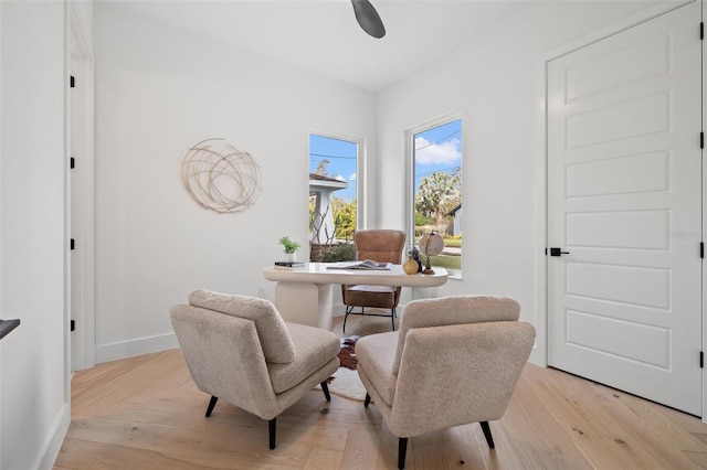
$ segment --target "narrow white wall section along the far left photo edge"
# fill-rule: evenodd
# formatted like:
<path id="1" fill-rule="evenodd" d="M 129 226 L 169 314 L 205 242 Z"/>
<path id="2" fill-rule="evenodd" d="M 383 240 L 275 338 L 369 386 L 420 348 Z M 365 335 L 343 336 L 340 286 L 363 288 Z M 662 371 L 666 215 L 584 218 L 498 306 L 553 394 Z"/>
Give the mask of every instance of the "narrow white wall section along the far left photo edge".
<path id="1" fill-rule="evenodd" d="M 68 426 L 65 4 L 0 2 L 0 468 L 50 468 Z"/>

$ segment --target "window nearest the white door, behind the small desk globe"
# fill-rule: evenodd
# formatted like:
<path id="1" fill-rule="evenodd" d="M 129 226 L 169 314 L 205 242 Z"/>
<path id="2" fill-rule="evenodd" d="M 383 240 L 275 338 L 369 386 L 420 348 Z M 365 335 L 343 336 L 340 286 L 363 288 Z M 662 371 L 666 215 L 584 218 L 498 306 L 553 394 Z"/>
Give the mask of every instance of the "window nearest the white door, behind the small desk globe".
<path id="1" fill-rule="evenodd" d="M 410 132 L 412 153 L 411 233 L 444 237 L 444 252 L 430 259 L 452 276 L 462 274 L 462 120 L 446 120 Z M 424 256 L 421 259 L 425 261 Z"/>

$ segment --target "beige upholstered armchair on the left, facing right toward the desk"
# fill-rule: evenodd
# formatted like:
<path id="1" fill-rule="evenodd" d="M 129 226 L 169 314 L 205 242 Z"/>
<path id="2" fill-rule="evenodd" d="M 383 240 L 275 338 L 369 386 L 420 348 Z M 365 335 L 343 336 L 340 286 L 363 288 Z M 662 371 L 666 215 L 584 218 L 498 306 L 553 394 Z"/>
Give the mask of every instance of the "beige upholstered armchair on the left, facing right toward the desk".
<path id="1" fill-rule="evenodd" d="M 285 322 L 267 300 L 197 290 L 170 317 L 197 387 L 266 419 L 275 448 L 276 417 L 339 367 L 339 338 Z"/>

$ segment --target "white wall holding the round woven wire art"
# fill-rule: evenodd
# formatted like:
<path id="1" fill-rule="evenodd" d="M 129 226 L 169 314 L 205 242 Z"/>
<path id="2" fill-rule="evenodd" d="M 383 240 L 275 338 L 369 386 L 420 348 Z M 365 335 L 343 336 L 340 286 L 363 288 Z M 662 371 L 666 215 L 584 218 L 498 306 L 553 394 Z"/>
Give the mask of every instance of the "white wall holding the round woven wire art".
<path id="1" fill-rule="evenodd" d="M 204 4 L 209 8 L 209 4 Z M 308 131 L 367 138 L 374 97 L 113 2 L 94 6 L 96 362 L 176 346 L 168 310 L 198 288 L 257 296 L 289 235 L 306 246 Z M 223 137 L 257 162 L 240 214 L 188 195 L 190 146 Z M 376 165 L 368 167 L 374 174 Z M 306 256 L 303 253 L 300 256 Z"/>

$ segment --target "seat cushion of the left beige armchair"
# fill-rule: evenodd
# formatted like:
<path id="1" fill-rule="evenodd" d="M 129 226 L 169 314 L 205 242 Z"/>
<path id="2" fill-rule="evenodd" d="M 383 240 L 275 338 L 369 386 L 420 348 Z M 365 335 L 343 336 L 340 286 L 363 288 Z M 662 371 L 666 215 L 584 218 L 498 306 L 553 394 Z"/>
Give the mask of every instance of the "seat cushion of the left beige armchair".
<path id="1" fill-rule="evenodd" d="M 336 357 L 339 338 L 330 331 L 305 324 L 285 322 L 294 343 L 295 359 L 287 364 L 270 363 L 270 378 L 276 394 L 288 391 Z"/>

